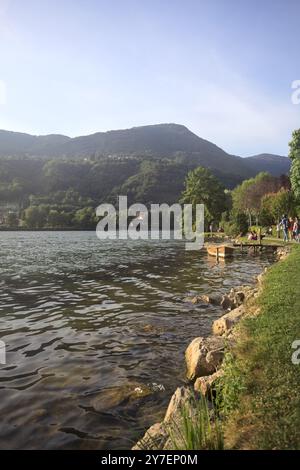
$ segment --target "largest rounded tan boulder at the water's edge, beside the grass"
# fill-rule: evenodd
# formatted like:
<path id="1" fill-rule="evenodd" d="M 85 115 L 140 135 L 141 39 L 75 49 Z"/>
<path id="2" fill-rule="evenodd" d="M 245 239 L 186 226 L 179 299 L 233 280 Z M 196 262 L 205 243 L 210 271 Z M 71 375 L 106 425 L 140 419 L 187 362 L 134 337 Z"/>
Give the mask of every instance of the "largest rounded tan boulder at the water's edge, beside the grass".
<path id="1" fill-rule="evenodd" d="M 217 337 L 195 338 L 187 347 L 187 378 L 191 381 L 216 371 L 224 356 L 224 341 Z"/>

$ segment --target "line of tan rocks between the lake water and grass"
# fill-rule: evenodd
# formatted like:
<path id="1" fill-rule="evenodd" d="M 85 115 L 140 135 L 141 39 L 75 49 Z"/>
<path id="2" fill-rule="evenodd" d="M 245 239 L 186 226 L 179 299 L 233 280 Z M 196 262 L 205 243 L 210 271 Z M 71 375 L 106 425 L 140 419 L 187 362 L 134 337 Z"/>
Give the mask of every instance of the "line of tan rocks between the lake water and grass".
<path id="1" fill-rule="evenodd" d="M 277 249 L 277 260 L 287 256 L 289 249 Z M 218 305 L 226 313 L 212 324 L 212 335 L 196 337 L 185 351 L 187 385 L 180 386 L 172 395 L 163 421 L 153 424 L 145 435 L 134 445 L 132 450 L 172 450 L 174 439 L 172 428 L 176 423 L 176 432 L 182 420 L 182 410 L 191 410 L 199 399 L 210 400 L 215 385 L 223 374 L 222 363 L 225 353 L 230 351 L 237 340 L 235 329 L 246 316 L 255 316 L 260 312 L 256 299 L 261 293 L 264 275 L 268 268 L 257 276 L 254 286 L 243 285 L 231 289 L 223 296 L 194 296 L 184 300 L 196 304 L 199 302 Z M 208 402 L 209 403 L 209 402 Z"/>

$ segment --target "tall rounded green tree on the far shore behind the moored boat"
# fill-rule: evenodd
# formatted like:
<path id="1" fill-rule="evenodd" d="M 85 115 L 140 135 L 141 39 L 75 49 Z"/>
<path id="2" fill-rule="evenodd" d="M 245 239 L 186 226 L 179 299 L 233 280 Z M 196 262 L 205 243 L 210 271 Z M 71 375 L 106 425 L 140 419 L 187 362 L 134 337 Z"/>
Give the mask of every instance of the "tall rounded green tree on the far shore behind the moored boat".
<path id="1" fill-rule="evenodd" d="M 192 204 L 193 207 L 204 204 L 207 222 L 219 220 L 227 208 L 224 187 L 210 170 L 201 166 L 188 173 L 180 202 Z"/>

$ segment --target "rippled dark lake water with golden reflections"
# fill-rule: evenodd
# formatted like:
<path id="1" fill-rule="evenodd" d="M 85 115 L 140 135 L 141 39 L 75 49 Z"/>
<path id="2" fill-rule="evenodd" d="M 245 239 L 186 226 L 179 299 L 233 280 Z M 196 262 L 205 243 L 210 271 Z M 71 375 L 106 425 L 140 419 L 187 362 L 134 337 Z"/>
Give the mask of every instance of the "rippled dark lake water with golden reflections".
<path id="1" fill-rule="evenodd" d="M 252 283 L 272 258 L 216 264 L 175 241 L 0 233 L 0 448 L 124 449 L 163 416 L 184 350 L 222 312 L 183 301 Z"/>

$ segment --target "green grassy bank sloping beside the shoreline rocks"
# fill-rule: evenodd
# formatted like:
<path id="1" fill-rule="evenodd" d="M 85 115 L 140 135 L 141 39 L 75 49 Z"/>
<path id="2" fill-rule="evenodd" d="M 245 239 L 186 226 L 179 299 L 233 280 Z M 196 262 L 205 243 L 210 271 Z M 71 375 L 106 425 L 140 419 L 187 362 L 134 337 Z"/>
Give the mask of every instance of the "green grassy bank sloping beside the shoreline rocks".
<path id="1" fill-rule="evenodd" d="M 221 408 L 225 446 L 300 449 L 300 247 L 265 276 L 261 313 L 240 324 L 234 355 L 225 361 Z M 300 354 L 299 354 L 300 357 Z"/>

